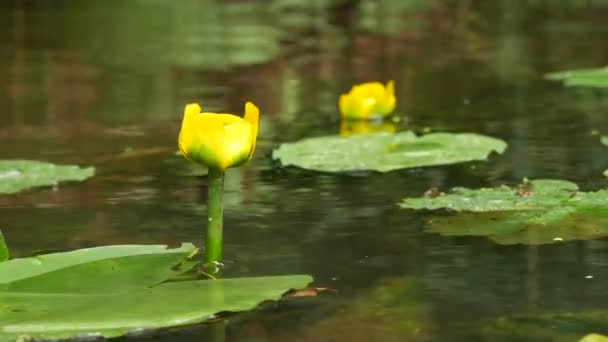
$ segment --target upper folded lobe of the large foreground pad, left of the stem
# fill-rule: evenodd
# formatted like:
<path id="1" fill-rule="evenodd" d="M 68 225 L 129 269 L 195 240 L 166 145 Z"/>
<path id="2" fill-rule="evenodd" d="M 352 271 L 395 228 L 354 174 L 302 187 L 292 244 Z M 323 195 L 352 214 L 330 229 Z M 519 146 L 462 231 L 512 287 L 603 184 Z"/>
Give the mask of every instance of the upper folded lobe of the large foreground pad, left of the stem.
<path id="1" fill-rule="evenodd" d="M 118 245 L 13 259 L 0 263 L 0 289 L 105 293 L 152 286 L 192 268 L 183 259 L 195 252 L 190 243 Z"/>

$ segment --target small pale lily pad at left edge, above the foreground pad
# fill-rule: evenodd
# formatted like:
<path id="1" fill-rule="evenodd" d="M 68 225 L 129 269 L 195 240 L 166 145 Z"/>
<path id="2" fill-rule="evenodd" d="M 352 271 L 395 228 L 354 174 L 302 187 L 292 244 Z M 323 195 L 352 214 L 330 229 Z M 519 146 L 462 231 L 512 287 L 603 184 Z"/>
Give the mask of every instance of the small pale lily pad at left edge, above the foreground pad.
<path id="1" fill-rule="evenodd" d="M 65 181 L 82 181 L 94 174 L 93 167 L 55 165 L 35 160 L 0 160 L 0 194 L 12 194 Z"/>

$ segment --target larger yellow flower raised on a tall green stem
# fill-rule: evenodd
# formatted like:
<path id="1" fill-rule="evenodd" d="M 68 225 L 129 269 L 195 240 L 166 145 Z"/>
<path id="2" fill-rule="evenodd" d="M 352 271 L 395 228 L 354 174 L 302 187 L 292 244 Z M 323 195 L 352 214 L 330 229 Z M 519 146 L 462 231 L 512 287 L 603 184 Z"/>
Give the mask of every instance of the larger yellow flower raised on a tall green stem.
<path id="1" fill-rule="evenodd" d="M 258 108 L 245 104 L 245 117 L 201 113 L 196 103 L 186 105 L 179 150 L 186 159 L 208 168 L 225 170 L 247 162 L 258 135 Z"/>

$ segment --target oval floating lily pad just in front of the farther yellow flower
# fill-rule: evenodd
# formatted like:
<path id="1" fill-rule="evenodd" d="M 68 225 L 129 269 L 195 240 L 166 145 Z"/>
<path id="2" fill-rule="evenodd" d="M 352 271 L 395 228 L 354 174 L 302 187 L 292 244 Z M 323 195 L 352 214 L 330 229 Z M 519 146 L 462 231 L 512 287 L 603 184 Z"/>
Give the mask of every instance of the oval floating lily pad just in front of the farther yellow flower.
<path id="1" fill-rule="evenodd" d="M 485 160 L 503 153 L 507 144 L 473 133 L 375 133 L 349 137 L 325 136 L 285 143 L 273 151 L 283 166 L 322 172 L 378 171 Z"/>

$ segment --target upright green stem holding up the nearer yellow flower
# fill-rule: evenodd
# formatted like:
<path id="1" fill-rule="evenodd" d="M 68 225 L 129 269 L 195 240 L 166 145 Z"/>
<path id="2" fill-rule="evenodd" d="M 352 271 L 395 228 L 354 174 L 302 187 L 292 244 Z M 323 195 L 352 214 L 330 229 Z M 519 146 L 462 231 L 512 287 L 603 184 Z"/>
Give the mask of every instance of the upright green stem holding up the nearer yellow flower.
<path id="1" fill-rule="evenodd" d="M 205 234 L 205 266 L 209 273 L 217 273 L 222 261 L 222 233 L 224 225 L 224 170 L 209 169 L 207 175 L 207 230 Z"/>

